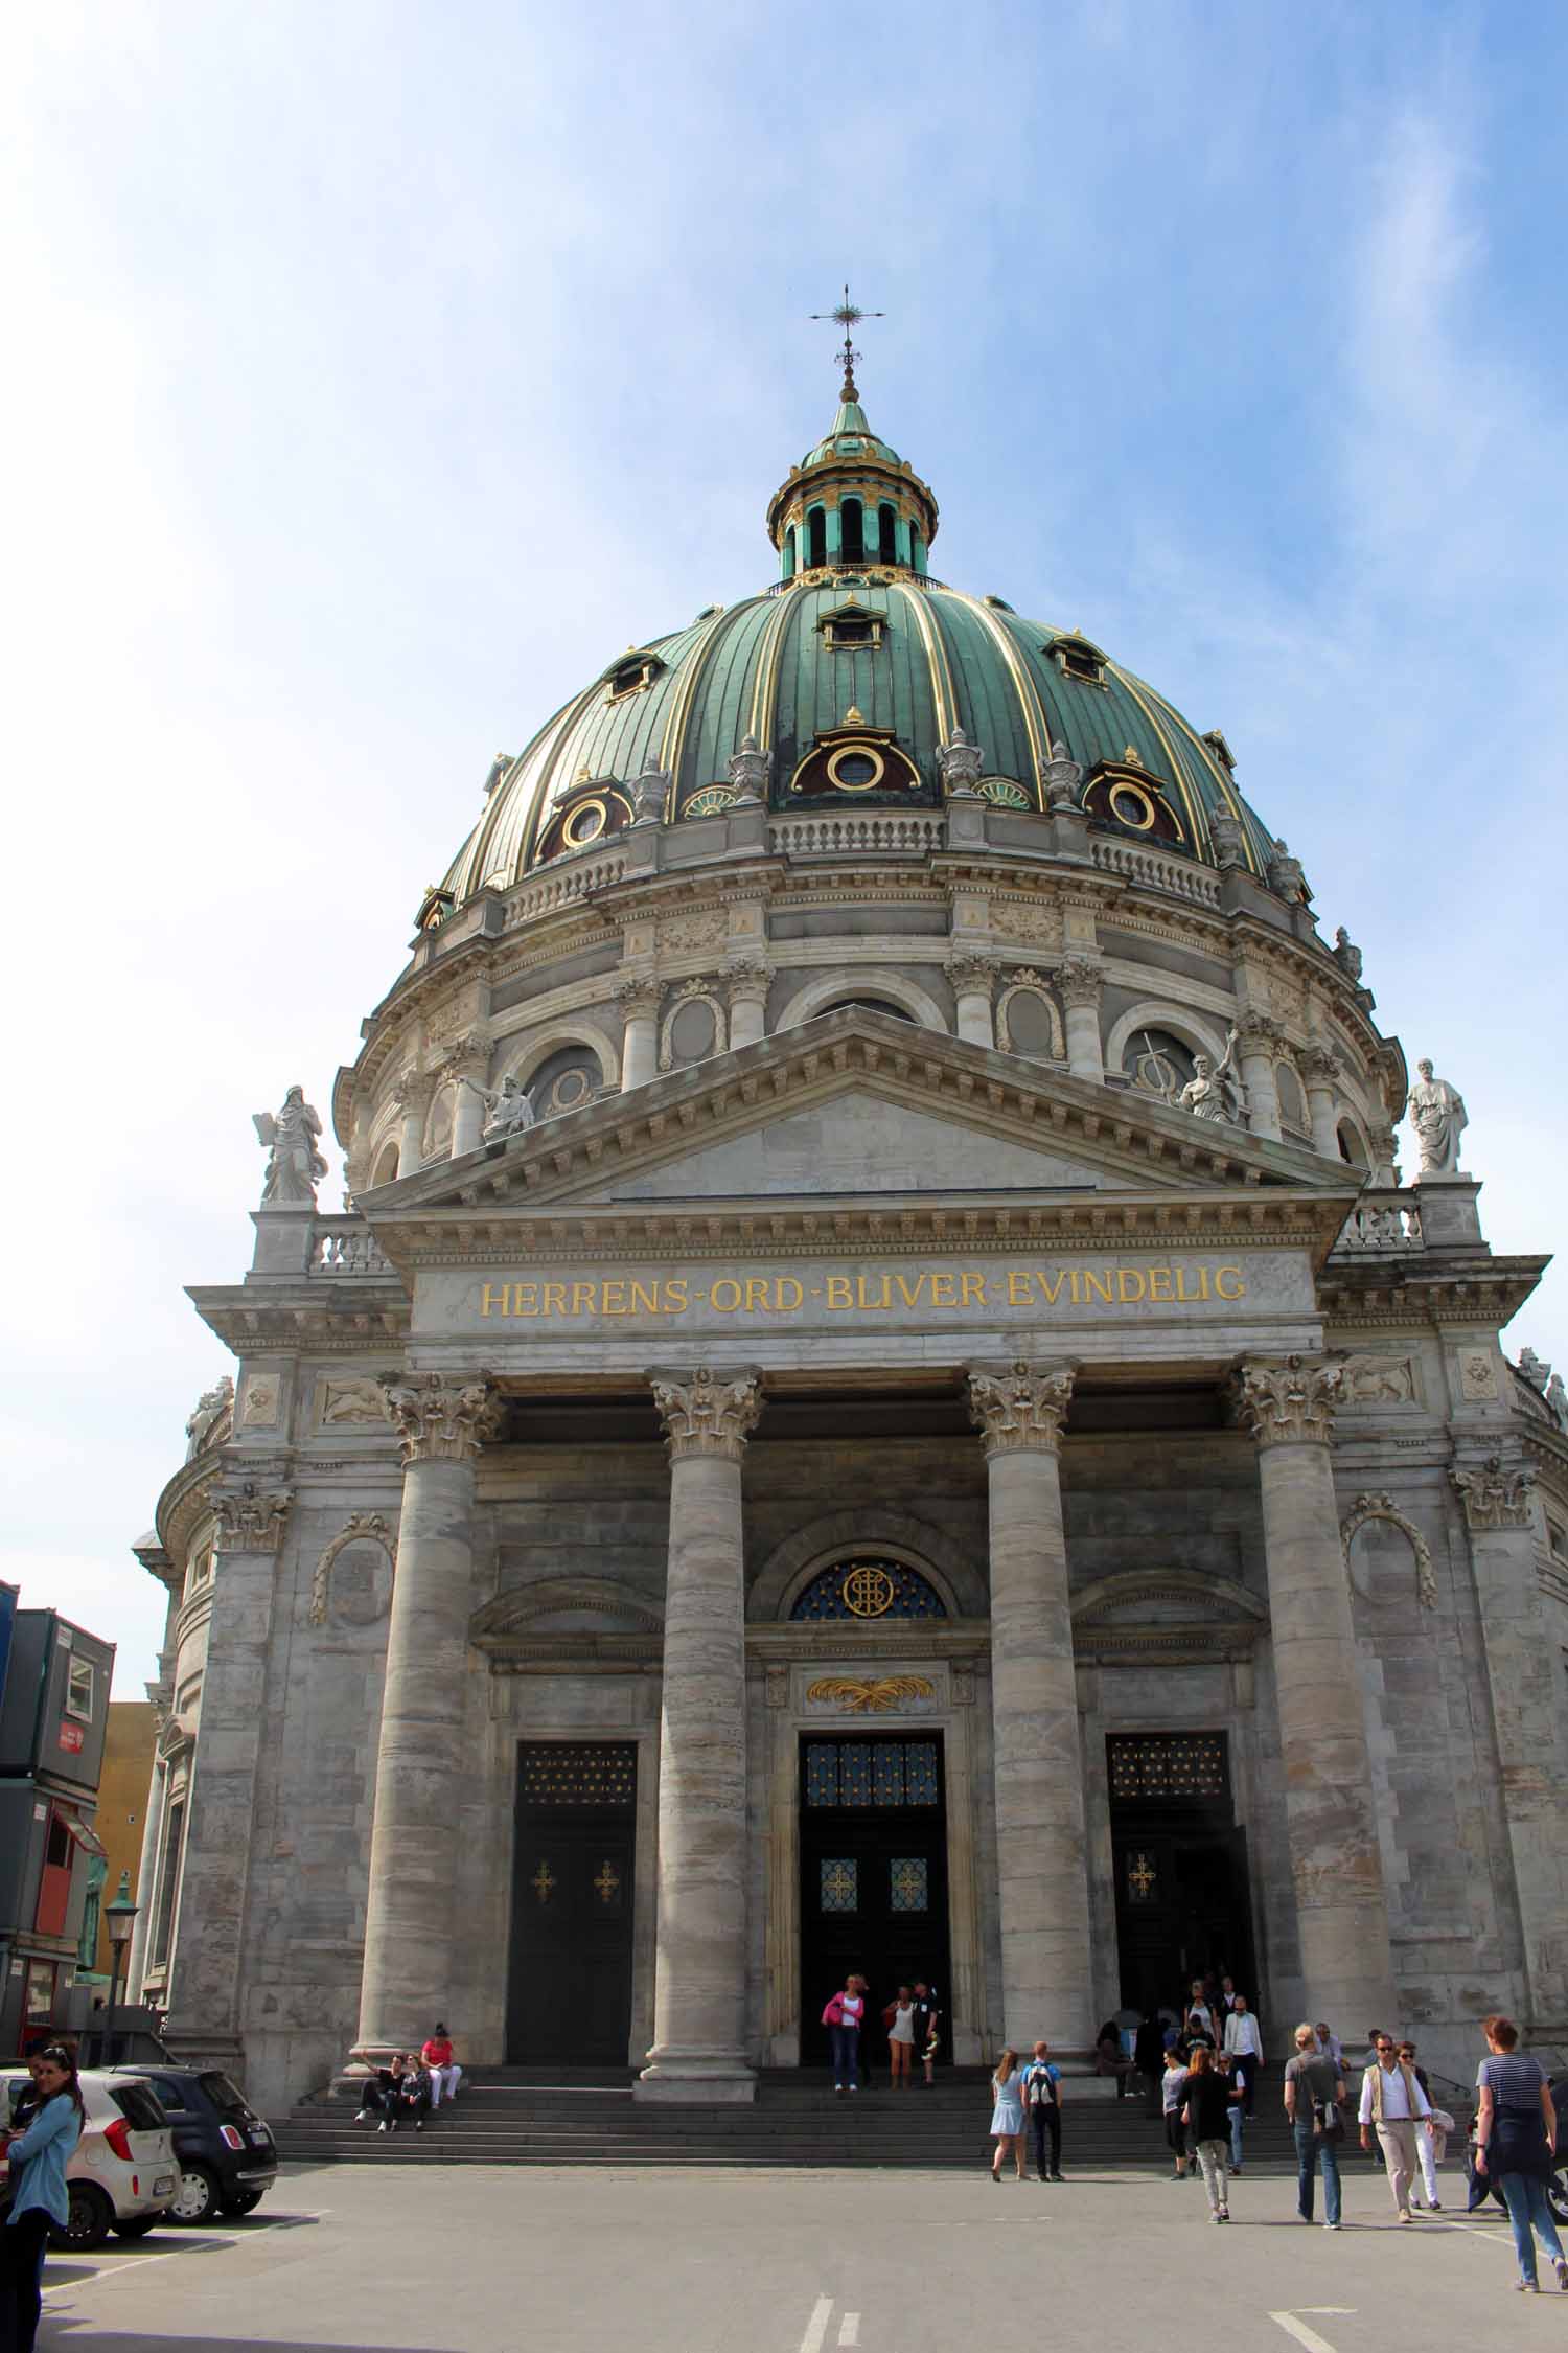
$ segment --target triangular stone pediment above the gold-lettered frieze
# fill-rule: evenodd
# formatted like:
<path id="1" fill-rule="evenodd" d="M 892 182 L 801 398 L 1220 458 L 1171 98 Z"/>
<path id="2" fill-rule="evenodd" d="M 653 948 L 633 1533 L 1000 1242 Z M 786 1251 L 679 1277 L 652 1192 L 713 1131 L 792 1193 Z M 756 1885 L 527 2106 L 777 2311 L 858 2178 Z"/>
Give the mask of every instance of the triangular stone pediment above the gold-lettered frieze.
<path id="1" fill-rule="evenodd" d="M 839 1007 L 425 1167 L 360 1207 L 397 1257 L 400 1228 L 515 1212 L 611 1221 L 788 1202 L 802 1214 L 950 1205 L 1006 1217 L 1056 1202 L 1117 1231 L 1150 1195 L 1251 1195 L 1255 1226 L 1276 1224 L 1286 1202 L 1300 1224 L 1302 1195 L 1319 1195 L 1305 1214 L 1326 1249 L 1354 1179 L 1152 1096 Z"/>

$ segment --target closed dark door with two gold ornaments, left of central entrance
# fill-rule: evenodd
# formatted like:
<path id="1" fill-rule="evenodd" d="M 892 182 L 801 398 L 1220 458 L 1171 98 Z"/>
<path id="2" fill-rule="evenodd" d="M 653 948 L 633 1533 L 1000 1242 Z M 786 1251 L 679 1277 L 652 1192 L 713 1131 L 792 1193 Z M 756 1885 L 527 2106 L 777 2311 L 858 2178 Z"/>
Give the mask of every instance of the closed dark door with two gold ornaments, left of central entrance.
<path id="1" fill-rule="evenodd" d="M 522 1741 L 505 2057 L 625 2066 L 632 2026 L 632 1741 Z"/>

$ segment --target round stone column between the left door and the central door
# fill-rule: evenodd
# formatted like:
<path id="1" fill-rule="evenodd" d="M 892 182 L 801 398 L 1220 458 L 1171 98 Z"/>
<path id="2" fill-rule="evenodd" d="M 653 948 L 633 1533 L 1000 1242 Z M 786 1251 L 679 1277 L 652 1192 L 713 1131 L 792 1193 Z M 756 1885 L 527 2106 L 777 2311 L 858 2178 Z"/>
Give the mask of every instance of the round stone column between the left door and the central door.
<path id="1" fill-rule="evenodd" d="M 755 1367 L 649 1374 L 670 1445 L 654 2049 L 639 2099 L 755 2099 L 745 2059 L 741 1457 Z"/>

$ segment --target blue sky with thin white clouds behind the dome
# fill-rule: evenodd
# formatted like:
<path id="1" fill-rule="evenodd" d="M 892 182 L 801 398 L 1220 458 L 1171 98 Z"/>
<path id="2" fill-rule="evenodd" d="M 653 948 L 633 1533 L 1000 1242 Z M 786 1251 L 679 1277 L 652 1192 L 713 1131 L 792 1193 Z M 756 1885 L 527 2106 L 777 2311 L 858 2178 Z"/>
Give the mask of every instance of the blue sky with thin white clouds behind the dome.
<path id="1" fill-rule="evenodd" d="M 1225 729 L 1552 1247 L 1566 66 L 1544 7 L 12 16 L 0 1574 L 120 1697 L 249 1113 L 327 1104 L 491 755 L 771 574 L 846 275 L 933 569 Z"/>

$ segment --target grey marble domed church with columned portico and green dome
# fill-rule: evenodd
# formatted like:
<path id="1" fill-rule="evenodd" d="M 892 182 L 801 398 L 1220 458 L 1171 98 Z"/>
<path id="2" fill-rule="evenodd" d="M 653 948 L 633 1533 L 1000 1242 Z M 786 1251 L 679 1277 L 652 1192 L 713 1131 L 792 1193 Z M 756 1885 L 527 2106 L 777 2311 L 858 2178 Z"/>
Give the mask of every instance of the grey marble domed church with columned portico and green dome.
<path id="1" fill-rule="evenodd" d="M 851 1967 L 959 2061 L 1204 1967 L 1561 2042 L 1568 1400 L 1441 1040 L 1218 727 L 936 579 L 853 353 L 766 534 L 256 1120 L 134 1988 L 270 2111 L 437 2017 L 741 2101 Z"/>

